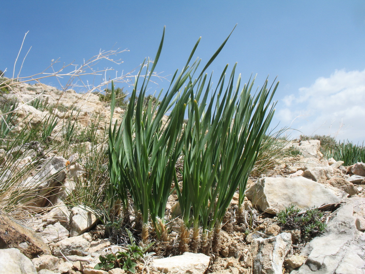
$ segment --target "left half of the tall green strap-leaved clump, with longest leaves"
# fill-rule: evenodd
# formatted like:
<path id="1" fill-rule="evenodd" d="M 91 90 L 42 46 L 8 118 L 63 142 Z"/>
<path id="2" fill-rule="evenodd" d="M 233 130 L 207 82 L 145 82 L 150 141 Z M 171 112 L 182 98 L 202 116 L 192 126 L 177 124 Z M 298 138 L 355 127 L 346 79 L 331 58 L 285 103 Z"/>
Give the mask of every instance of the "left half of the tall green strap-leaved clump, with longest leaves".
<path id="1" fill-rule="evenodd" d="M 114 84 L 112 84 L 109 129 L 111 184 L 124 203 L 124 207 L 128 202 L 127 193 L 131 195 L 136 212 L 141 214 L 143 241 L 147 241 L 148 238 L 147 224 L 149 221 L 152 222 L 158 238 L 167 236 L 167 230 L 164 227 L 165 208 L 176 172 L 177 157 L 184 145 L 181 139 L 181 130 L 183 128 L 185 108 L 194 87 L 203 76 L 204 71 L 222 50 L 228 38 L 208 61 L 197 79 L 192 81 L 192 76 L 200 61 L 196 60 L 191 66 L 189 63 L 200 41 L 199 38 L 184 69 L 180 74 L 178 74 L 178 71 L 174 73 L 165 95 L 161 95 L 161 90 L 160 94 L 157 95 L 158 103 L 154 104 L 153 97 L 150 97 L 146 106 L 147 85 L 160 56 L 163 40 L 164 35 L 162 35 L 152 68 L 149 69 L 150 62 L 147 62 L 146 66 L 142 65 L 135 79 L 130 103 L 119 128 L 116 123 L 114 127 L 112 126 L 112 115 L 115 106 L 115 91 Z M 144 75 L 142 74 L 143 68 L 146 69 Z M 142 82 L 141 87 L 139 87 L 140 82 Z M 137 91 L 139 91 L 138 99 Z M 136 100 L 137 103 L 135 103 Z M 169 113 L 167 121 L 162 122 L 162 118 L 167 113 Z"/>

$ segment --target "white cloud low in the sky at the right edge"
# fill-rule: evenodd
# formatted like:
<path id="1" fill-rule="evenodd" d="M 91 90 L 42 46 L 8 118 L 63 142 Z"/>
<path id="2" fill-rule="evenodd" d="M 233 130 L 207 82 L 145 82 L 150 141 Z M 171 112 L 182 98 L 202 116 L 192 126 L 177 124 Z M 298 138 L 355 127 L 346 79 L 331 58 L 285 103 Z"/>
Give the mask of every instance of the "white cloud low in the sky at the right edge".
<path id="1" fill-rule="evenodd" d="M 319 77 L 282 102 L 285 107 L 277 110 L 276 117 L 303 134 L 331 134 L 355 143 L 365 140 L 365 70 Z"/>

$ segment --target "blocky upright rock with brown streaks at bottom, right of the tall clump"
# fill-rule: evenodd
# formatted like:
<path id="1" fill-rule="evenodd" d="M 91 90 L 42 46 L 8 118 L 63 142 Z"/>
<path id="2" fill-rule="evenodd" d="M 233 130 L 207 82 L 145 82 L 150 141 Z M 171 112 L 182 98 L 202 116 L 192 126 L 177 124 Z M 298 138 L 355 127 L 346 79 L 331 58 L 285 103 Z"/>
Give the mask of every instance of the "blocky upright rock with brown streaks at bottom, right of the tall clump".
<path id="1" fill-rule="evenodd" d="M 282 274 L 284 258 L 292 244 L 290 233 L 280 233 L 267 239 L 257 238 L 251 243 L 254 274 Z"/>

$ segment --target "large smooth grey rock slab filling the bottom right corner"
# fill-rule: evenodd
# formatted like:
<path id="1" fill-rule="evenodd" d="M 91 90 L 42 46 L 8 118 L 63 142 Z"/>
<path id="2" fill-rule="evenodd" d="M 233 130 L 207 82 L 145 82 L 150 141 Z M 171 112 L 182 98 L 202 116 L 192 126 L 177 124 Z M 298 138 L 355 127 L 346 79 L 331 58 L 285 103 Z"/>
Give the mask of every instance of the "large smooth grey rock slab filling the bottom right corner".
<path id="1" fill-rule="evenodd" d="M 292 274 L 365 273 L 365 233 L 356 229 L 356 214 L 365 214 L 365 199 L 353 197 L 334 212 L 326 232 L 311 240 L 302 250 L 306 262 Z"/>

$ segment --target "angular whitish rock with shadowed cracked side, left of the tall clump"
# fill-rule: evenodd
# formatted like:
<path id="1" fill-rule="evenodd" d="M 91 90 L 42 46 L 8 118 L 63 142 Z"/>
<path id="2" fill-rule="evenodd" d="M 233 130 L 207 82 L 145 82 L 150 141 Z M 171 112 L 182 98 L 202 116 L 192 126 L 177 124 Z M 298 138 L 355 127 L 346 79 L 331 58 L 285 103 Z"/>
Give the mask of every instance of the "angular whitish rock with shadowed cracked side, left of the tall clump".
<path id="1" fill-rule="evenodd" d="M 93 227 L 97 218 L 91 208 L 85 205 L 75 206 L 70 215 L 70 236 L 78 236 Z"/>

